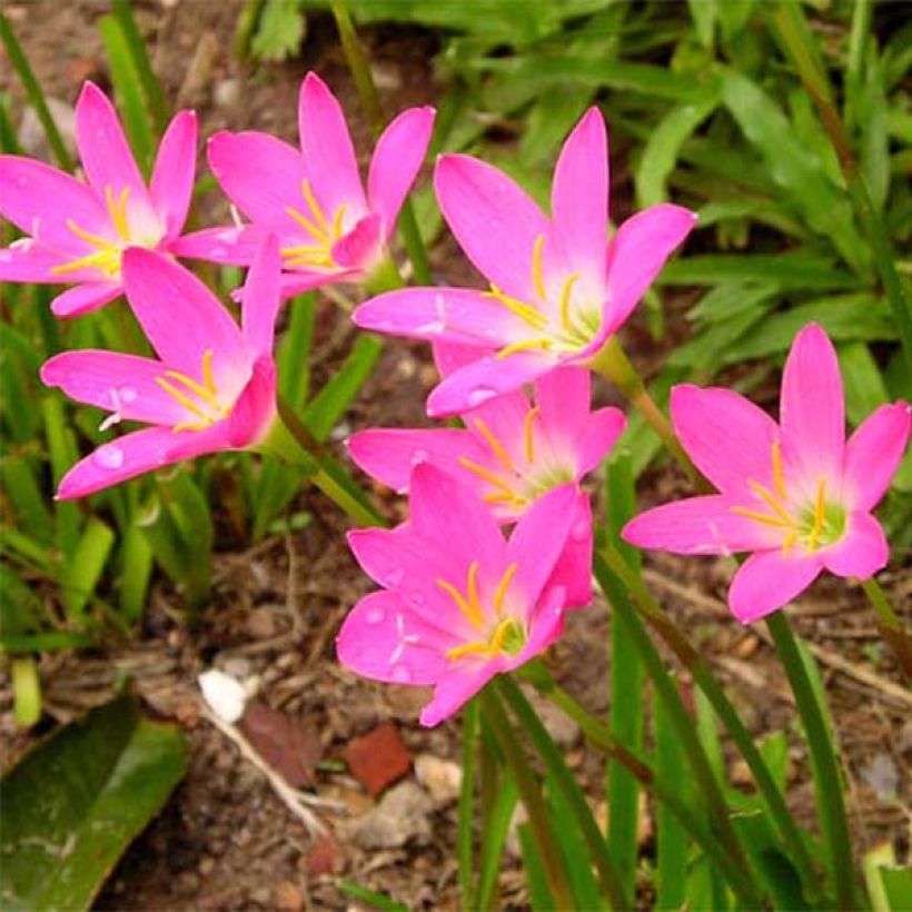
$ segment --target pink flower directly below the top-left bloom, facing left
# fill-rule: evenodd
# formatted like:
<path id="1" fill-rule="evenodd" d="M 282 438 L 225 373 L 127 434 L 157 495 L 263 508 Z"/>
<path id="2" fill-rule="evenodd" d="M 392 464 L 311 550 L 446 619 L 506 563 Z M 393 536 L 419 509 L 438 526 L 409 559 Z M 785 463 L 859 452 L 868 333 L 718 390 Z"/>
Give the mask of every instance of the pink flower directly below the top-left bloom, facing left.
<path id="1" fill-rule="evenodd" d="M 272 334 L 279 252 L 267 238 L 242 290 L 241 326 L 191 272 L 161 254 L 123 254 L 130 307 L 159 360 L 116 351 L 65 351 L 41 368 L 48 386 L 151 427 L 103 444 L 62 478 L 57 496 L 85 497 L 160 466 L 261 443 L 276 418 Z"/>

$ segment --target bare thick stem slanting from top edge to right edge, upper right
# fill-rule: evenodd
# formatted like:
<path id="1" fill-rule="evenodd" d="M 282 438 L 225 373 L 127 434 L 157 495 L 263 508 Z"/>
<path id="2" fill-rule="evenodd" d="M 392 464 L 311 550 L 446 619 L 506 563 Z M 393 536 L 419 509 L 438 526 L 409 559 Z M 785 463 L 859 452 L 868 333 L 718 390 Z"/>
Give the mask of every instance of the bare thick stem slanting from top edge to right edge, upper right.
<path id="1" fill-rule="evenodd" d="M 902 340 L 906 368 L 905 389 L 909 390 L 912 386 L 912 303 L 896 272 L 883 218 L 874 208 L 871 192 L 852 152 L 845 127 L 833 100 L 826 70 L 801 7 L 795 0 L 780 0 L 766 7 L 766 14 L 770 17 L 774 38 L 797 70 L 802 85 L 817 109 L 845 177 L 845 186 L 855 215 L 868 234 L 874 265 L 893 308 L 893 318 Z"/>

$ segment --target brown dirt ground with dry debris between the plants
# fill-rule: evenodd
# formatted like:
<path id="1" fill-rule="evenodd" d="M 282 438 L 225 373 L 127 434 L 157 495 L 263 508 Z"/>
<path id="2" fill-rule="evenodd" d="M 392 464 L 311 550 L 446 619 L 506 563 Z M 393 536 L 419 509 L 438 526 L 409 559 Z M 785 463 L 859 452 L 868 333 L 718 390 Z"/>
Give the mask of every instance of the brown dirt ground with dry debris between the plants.
<path id="1" fill-rule="evenodd" d="M 8 2 L 6 14 L 48 92 L 71 105 L 80 82 L 106 83 L 103 52 L 95 20 L 103 0 Z M 300 79 L 316 69 L 338 93 L 353 120 L 354 87 L 335 43 L 331 23 L 313 18 L 299 59 L 287 65 L 242 66 L 232 56 L 238 2 L 160 0 L 137 2 L 140 26 L 152 41 L 153 63 L 170 100 L 196 107 L 202 136 L 220 128 L 262 129 L 294 139 Z M 408 29 L 367 34 L 388 110 L 432 103 L 433 37 Z M 0 60 L 0 89 L 20 99 L 8 63 Z M 21 107 L 17 110 L 21 110 Z M 368 146 L 365 128 L 356 143 Z M 625 174 L 614 161 L 616 191 L 625 195 Z M 212 218 L 225 217 L 214 196 Z M 220 208 L 222 207 L 222 208 Z M 474 281 L 452 242 L 435 251 L 439 276 Z M 671 303 L 672 337 L 683 331 Z M 320 305 L 323 345 L 315 380 L 326 377 L 354 335 L 334 331 L 334 311 Z M 338 320 L 335 321 L 338 324 Z M 625 341 L 647 373 L 663 350 L 636 321 Z M 350 429 L 371 425 L 426 424 L 422 412 L 434 374 L 422 347 L 390 340 L 380 366 L 347 417 Z M 767 405 L 774 398 L 770 385 Z M 612 391 L 601 390 L 605 402 Z M 762 398 L 761 393 L 761 398 Z M 648 505 L 685 492 L 671 468 L 641 483 Z M 400 509 L 386 496 L 390 516 Z M 177 720 L 189 740 L 190 766 L 162 814 L 131 846 L 99 899 L 106 909 L 344 909 L 357 905 L 340 892 L 339 878 L 389 893 L 409 908 L 457 906 L 454 761 L 458 724 L 433 731 L 417 725 L 422 691 L 375 685 L 341 668 L 334 637 L 351 604 L 369 587 L 345 544 L 344 517 L 319 495 L 304 492 L 301 508 L 313 522 L 291 536 L 274 536 L 239 549 L 230 536 L 216 556 L 215 595 L 196 630 L 176 619 L 179 599 L 163 583 L 153 588 L 141 638 L 130 647 L 96 654 L 54 654 L 42 662 L 49 718 L 66 721 L 109 698 L 128 672 L 149 707 Z M 789 800 L 804 819 L 813 815 L 806 754 L 795 734 L 794 706 L 783 675 L 757 626 L 736 624 L 724 605 L 727 571 L 712 561 L 651 556 L 650 583 L 698 641 L 752 731 L 786 730 L 790 735 Z M 909 604 L 912 585 L 885 575 L 895 603 Z M 799 631 L 813 644 L 845 759 L 849 807 L 859 847 L 883 840 L 909 851 L 912 820 L 912 698 L 900 683 L 860 591 L 821 583 L 792 611 Z M 572 615 L 567 635 L 552 650 L 555 674 L 588 707 L 609 703 L 606 650 L 609 615 L 601 602 Z M 279 712 L 268 715 L 277 740 L 299 738 L 320 761 L 306 790 L 307 810 L 333 831 L 316 836 L 313 825 L 282 801 L 236 740 L 207 717 L 197 675 L 209 667 L 249 683 L 254 700 Z M 686 687 L 687 682 L 682 682 Z M 623 695 L 618 695 L 623 698 Z M 2 691 L 0 733 L 8 764 L 30 736 L 17 732 L 8 686 Z M 277 721 L 278 720 L 278 721 Z M 371 797 L 341 762 L 353 738 L 391 721 L 413 772 L 379 797 Z M 578 731 L 549 717 L 572 766 L 581 770 L 598 804 L 603 771 L 584 750 Z M 268 738 L 267 738 L 268 740 Z M 261 740 L 260 740 L 261 743 Z M 297 742 L 296 742 L 297 743 Z M 287 757 L 274 765 L 285 769 Z M 731 759 L 733 782 L 746 787 L 746 770 Z M 643 853 L 652 852 L 650 809 L 643 811 Z M 523 908 L 518 862 L 508 854 L 502 875 L 504 902 Z"/>

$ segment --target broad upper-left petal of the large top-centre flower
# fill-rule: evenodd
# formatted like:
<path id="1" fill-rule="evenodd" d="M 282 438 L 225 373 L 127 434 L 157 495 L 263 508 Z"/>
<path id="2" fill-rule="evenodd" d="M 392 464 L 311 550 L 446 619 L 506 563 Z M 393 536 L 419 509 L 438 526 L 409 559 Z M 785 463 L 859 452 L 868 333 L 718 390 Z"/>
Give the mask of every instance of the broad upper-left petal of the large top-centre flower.
<path id="1" fill-rule="evenodd" d="M 477 158 L 445 155 L 434 187 L 444 218 L 475 268 L 506 294 L 535 300 L 533 251 L 548 222 L 503 171 Z"/>

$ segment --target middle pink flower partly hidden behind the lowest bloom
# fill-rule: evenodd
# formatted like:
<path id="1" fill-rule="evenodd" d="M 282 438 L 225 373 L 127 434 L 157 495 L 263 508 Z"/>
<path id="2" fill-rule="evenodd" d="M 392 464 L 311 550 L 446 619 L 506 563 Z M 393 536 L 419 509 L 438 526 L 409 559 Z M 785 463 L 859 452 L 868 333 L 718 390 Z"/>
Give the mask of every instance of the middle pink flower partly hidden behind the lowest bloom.
<path id="1" fill-rule="evenodd" d="M 624 429 L 617 408 L 589 412 L 589 375 L 555 370 L 535 383 L 535 405 L 516 390 L 460 416 L 463 428 L 371 428 L 355 434 L 355 463 L 399 493 L 426 463 L 452 475 L 486 503 L 497 522 L 515 523 L 549 490 L 577 485 L 598 466 Z M 592 601 L 592 508 L 579 495 L 573 534 L 558 562 L 567 606 Z"/>

